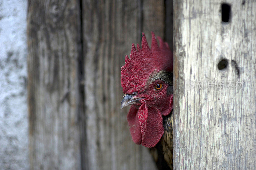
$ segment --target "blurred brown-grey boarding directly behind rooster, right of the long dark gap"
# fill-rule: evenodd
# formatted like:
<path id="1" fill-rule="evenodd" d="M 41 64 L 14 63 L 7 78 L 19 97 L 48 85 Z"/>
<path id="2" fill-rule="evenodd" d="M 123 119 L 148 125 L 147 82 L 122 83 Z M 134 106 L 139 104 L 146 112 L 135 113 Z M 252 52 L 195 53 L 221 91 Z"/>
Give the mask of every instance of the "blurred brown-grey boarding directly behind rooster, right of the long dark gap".
<path id="1" fill-rule="evenodd" d="M 149 42 L 151 30 L 163 36 L 163 5 L 115 0 L 82 3 L 87 138 L 84 161 L 90 169 L 156 169 L 148 149 L 132 142 L 126 120 L 129 108 L 120 108 L 124 95 L 120 69 L 132 43 L 141 43 L 142 31 Z M 151 16 L 151 9 L 158 18 Z"/>

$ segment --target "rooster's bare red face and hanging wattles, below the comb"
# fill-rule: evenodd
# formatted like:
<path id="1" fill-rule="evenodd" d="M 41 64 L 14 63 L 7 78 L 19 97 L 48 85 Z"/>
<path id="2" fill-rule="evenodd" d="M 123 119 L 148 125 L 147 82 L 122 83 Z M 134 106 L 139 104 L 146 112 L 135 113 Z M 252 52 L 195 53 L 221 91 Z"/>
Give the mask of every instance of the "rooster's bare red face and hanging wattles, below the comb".
<path id="1" fill-rule="evenodd" d="M 162 83 L 162 89 L 155 86 Z M 163 81 L 155 81 L 137 92 L 136 97 L 143 99 L 136 106 L 131 106 L 127 115 L 132 140 L 146 147 L 154 147 L 164 133 L 163 115 L 168 115 L 173 108 L 173 96 L 167 93 L 170 85 Z"/>

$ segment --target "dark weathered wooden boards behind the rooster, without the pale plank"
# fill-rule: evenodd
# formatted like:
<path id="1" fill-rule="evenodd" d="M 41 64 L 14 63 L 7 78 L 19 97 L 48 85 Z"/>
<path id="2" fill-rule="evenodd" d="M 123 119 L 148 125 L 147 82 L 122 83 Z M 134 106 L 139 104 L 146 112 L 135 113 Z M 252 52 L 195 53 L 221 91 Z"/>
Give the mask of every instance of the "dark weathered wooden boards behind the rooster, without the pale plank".
<path id="1" fill-rule="evenodd" d="M 172 46 L 172 3 L 30 0 L 31 169 L 155 169 L 132 142 L 120 68 L 151 30 Z"/>

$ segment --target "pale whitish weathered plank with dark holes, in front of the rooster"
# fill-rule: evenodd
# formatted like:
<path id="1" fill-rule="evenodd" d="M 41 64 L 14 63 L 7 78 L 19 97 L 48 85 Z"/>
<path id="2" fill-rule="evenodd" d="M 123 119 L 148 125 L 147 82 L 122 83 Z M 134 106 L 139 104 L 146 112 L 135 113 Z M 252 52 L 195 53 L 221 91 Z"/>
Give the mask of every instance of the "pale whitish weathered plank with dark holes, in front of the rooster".
<path id="1" fill-rule="evenodd" d="M 225 1 L 228 23 L 222 2 L 174 1 L 175 169 L 256 169 L 256 1 Z M 221 81 L 244 84 L 216 89 Z"/>

